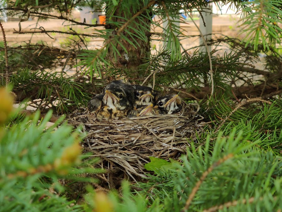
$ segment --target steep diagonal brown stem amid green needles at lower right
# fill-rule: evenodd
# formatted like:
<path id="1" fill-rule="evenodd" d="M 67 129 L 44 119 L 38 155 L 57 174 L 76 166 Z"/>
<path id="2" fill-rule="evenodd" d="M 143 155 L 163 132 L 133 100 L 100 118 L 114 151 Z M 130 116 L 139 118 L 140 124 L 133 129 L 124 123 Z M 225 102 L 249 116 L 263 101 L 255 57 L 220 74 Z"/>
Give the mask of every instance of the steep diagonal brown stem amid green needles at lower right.
<path id="1" fill-rule="evenodd" d="M 187 211 L 189 209 L 189 206 L 193 200 L 193 198 L 195 197 L 197 191 L 199 190 L 202 182 L 205 180 L 206 176 L 212 172 L 212 170 L 217 167 L 218 165 L 222 164 L 224 161 L 228 160 L 229 158 L 232 158 L 234 155 L 232 153 L 224 156 L 223 158 L 219 159 L 217 162 L 215 162 L 214 164 L 212 164 L 212 166 L 210 166 L 208 168 L 208 170 L 206 170 L 200 180 L 196 183 L 196 185 L 194 186 L 194 188 L 192 189 L 187 201 L 186 201 L 186 204 L 185 204 L 185 207 L 181 210 L 181 212 L 184 212 L 184 211 Z"/>

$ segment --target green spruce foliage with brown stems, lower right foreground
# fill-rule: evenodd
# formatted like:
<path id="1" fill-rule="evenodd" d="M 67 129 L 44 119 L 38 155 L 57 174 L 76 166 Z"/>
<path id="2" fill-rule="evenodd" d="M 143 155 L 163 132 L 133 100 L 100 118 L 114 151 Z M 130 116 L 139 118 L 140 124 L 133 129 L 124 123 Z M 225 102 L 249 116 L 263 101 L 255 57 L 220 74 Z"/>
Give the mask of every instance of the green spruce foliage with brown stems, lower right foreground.
<path id="1" fill-rule="evenodd" d="M 252 133 L 234 128 L 224 134 L 218 133 L 213 141 L 207 137 L 198 147 L 191 143 L 180 165 L 150 176 L 136 193 L 148 196 L 152 211 L 281 208 L 281 157 L 261 150 L 261 140 L 250 142 Z"/>

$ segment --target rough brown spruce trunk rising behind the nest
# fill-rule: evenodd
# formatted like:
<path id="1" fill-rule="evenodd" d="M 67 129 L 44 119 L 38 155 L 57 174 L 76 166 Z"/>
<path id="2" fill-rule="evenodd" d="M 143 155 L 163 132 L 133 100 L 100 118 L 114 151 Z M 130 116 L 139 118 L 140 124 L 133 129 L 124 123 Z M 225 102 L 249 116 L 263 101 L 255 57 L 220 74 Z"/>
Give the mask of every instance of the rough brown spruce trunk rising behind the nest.
<path id="1" fill-rule="evenodd" d="M 138 4 L 138 1 L 136 1 L 136 4 Z M 136 5 L 134 5 L 134 10 L 136 11 Z M 139 8 L 137 11 L 141 10 L 144 7 L 144 5 L 139 5 Z M 132 8 L 132 7 L 130 7 Z M 105 28 L 109 30 L 118 30 L 115 25 L 113 24 L 107 24 L 107 20 L 109 16 L 107 14 L 112 14 L 116 17 L 111 17 L 111 21 L 118 22 L 118 23 L 126 23 L 126 21 L 122 18 L 117 17 L 124 17 L 126 19 L 130 19 L 134 14 L 131 14 L 131 11 L 134 11 L 133 9 L 130 9 L 130 11 L 125 11 L 125 9 L 122 9 L 121 5 L 118 5 L 115 8 L 115 12 L 112 13 L 112 11 L 106 10 L 106 25 Z M 150 14 L 149 14 L 150 15 Z M 114 67 L 117 68 L 123 68 L 123 69 L 130 69 L 130 75 L 132 78 L 137 78 L 138 73 L 136 72 L 137 66 L 144 63 L 144 59 L 148 58 L 150 55 L 150 23 L 151 23 L 151 16 L 148 16 L 147 13 L 143 13 L 139 16 L 139 18 L 135 18 L 130 22 L 130 28 L 135 28 L 136 30 L 140 30 L 138 28 L 138 24 L 140 23 L 140 17 L 143 17 L 143 23 L 146 23 L 147 25 L 143 24 L 145 39 L 139 39 L 137 37 L 134 37 L 134 40 L 128 35 L 128 33 L 123 30 L 121 32 L 122 35 L 126 36 L 130 41 L 132 41 L 137 48 L 135 48 L 133 45 L 128 43 L 122 38 L 119 38 L 119 42 L 112 41 L 112 44 L 114 44 L 115 48 L 118 50 L 119 54 L 116 54 L 116 49 L 113 46 L 109 46 L 108 52 L 107 52 L 107 60 L 111 61 Z M 142 22 L 141 22 L 142 23 Z M 126 30 L 129 30 L 131 33 L 134 33 L 133 29 L 129 29 L 128 27 Z M 112 31 L 110 31 L 112 33 Z M 113 31 L 113 34 L 115 31 Z M 134 33 L 135 34 L 135 33 Z M 111 35 L 109 35 L 111 37 Z M 138 46 L 137 43 L 140 45 Z M 127 52 L 123 49 L 123 46 L 126 48 Z"/>

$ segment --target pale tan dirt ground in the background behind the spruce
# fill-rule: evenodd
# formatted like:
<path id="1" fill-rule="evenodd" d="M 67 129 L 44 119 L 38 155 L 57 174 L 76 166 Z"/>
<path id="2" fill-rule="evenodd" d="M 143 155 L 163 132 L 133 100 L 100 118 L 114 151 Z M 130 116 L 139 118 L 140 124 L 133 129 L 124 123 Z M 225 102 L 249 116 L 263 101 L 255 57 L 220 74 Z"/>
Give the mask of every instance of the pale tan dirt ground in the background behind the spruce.
<path id="1" fill-rule="evenodd" d="M 222 14 L 222 15 L 216 15 L 214 14 L 212 17 L 212 38 L 220 37 L 222 35 L 227 35 L 229 37 L 235 37 L 239 38 L 240 35 L 238 35 L 239 27 L 242 22 L 239 21 L 240 16 L 235 14 Z M 71 19 L 74 19 L 76 21 L 82 21 L 80 11 L 72 11 L 72 17 Z M 155 21 L 158 21 L 158 17 L 154 17 Z M 197 26 L 200 26 L 199 17 L 194 16 L 194 20 L 197 24 Z M 180 43 L 182 44 L 183 49 L 188 50 L 187 52 L 189 54 L 193 54 L 195 49 L 190 48 L 194 46 L 198 46 L 200 43 L 199 37 L 193 35 L 199 35 L 199 31 L 194 25 L 194 23 L 190 19 L 181 19 L 183 23 L 180 23 L 180 27 L 183 30 L 184 35 L 188 35 L 186 38 L 180 38 Z M 21 22 L 21 32 L 32 32 L 34 31 L 34 28 L 41 27 L 44 30 L 53 30 L 53 31 L 70 31 L 70 28 L 75 30 L 79 33 L 85 33 L 85 34 L 91 34 L 94 32 L 94 28 L 89 27 L 85 28 L 84 26 L 78 26 L 78 25 L 71 25 L 70 22 L 64 21 L 64 20 L 57 20 L 57 19 L 49 19 L 48 21 L 38 21 L 35 17 L 32 20 Z M 6 39 L 8 42 L 8 45 L 20 45 L 24 44 L 24 42 L 31 42 L 31 43 L 37 43 L 39 41 L 44 41 L 45 44 L 61 47 L 64 48 L 64 43 L 68 41 L 69 38 L 71 38 L 71 35 L 67 34 L 61 34 L 61 33 L 49 33 L 50 36 L 44 33 L 35 33 L 35 34 L 17 34 L 16 30 L 19 30 L 19 21 L 8 21 L 6 23 L 3 23 L 3 27 L 6 32 Z M 103 27 L 95 27 L 95 29 L 102 29 Z M 39 30 L 36 30 L 39 31 Z M 152 26 L 152 32 L 162 32 L 162 29 L 160 27 L 154 27 Z M 2 33 L 1 33 L 2 34 Z M 242 35 L 241 35 L 242 37 Z M 87 44 L 88 49 L 99 49 L 103 45 L 104 40 L 101 38 L 90 38 L 89 42 Z M 155 46 L 156 49 L 159 49 L 159 46 L 163 45 L 162 42 L 159 41 L 158 36 L 152 36 L 152 42 L 151 46 Z M 212 46 L 212 49 L 214 49 L 215 46 Z M 218 50 L 218 49 L 217 49 Z M 152 50 L 152 54 L 154 54 Z M 219 52 L 217 53 L 224 53 L 226 49 L 219 49 Z"/>

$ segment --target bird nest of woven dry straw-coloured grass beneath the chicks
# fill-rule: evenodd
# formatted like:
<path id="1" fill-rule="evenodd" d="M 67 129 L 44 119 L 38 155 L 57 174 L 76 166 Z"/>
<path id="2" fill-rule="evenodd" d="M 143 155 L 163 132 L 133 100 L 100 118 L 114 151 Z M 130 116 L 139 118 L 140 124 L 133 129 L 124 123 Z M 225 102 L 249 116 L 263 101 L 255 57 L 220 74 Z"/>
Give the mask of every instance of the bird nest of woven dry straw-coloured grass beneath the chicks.
<path id="1" fill-rule="evenodd" d="M 99 122 L 95 114 L 79 109 L 69 117 L 69 123 L 83 126 L 87 133 L 84 151 L 100 157 L 96 167 L 107 170 L 101 179 L 120 182 L 128 176 L 137 181 L 146 176 L 144 164 L 150 162 L 150 156 L 177 160 L 185 154 L 196 134 L 203 131 L 198 111 L 198 104 L 188 104 L 183 105 L 182 113 Z"/>

